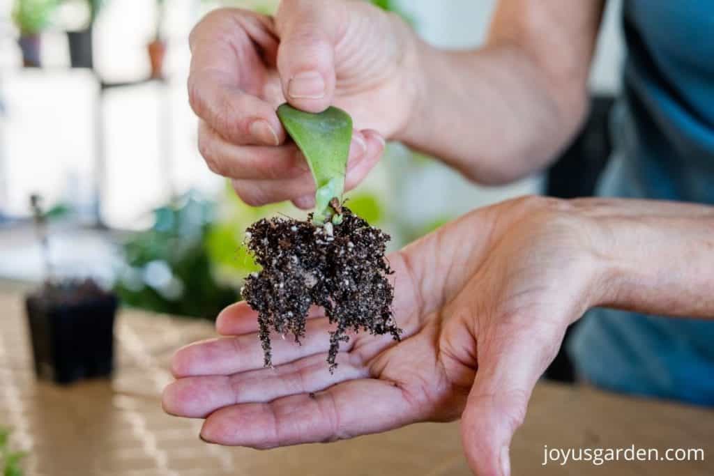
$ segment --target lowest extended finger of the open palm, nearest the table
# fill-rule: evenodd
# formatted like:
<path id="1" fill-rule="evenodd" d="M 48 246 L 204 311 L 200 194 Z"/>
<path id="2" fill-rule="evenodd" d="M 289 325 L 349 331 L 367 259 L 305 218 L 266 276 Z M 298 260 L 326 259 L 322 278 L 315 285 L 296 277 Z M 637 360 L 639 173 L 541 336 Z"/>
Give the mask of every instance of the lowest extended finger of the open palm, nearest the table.
<path id="1" fill-rule="evenodd" d="M 313 395 L 221 408 L 203 423 L 203 440 L 259 449 L 343 440 L 418 419 L 402 390 L 383 380 L 339 383 Z"/>

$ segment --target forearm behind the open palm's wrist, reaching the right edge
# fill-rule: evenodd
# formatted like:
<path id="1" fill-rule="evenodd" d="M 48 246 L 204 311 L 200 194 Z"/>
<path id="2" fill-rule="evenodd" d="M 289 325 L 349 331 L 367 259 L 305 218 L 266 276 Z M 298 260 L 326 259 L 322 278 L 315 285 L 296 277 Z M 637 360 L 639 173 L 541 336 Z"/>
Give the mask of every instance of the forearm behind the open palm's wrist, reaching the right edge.
<path id="1" fill-rule="evenodd" d="M 714 207 L 608 200 L 587 213 L 602 238 L 598 305 L 714 318 Z"/>

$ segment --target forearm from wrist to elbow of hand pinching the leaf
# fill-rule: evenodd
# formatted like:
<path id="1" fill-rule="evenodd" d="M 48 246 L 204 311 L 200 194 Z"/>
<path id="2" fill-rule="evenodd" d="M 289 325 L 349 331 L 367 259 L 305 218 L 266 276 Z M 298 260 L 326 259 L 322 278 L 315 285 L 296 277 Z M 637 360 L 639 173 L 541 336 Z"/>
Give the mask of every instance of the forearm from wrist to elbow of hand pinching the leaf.
<path id="1" fill-rule="evenodd" d="M 517 48 L 425 56 L 422 100 L 400 140 L 472 180 L 507 183 L 538 170 L 583 116 L 585 99 L 561 111 Z"/>

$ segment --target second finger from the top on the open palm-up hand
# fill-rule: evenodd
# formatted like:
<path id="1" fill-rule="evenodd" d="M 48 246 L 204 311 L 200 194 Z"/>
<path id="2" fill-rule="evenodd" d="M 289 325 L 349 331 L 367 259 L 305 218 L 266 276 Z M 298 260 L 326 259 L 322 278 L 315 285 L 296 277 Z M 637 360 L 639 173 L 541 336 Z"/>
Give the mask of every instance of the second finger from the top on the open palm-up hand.
<path id="1" fill-rule="evenodd" d="M 271 340 L 273 365 L 292 362 L 330 348 L 329 331 L 333 330 L 327 318 L 308 320 L 302 345 L 292 336 Z M 341 350 L 349 350 L 345 343 Z M 257 333 L 238 335 L 233 338 L 218 338 L 187 345 L 179 349 L 171 361 L 171 370 L 176 378 L 197 375 L 230 375 L 246 370 L 263 368 L 263 349 Z"/>

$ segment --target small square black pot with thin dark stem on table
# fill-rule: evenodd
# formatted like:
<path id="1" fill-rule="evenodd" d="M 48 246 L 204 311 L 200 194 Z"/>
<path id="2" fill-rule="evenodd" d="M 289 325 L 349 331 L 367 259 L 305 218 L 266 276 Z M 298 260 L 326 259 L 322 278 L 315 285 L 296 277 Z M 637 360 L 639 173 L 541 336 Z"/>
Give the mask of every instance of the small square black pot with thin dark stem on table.
<path id="1" fill-rule="evenodd" d="M 56 278 L 39 196 L 32 197 L 31 205 L 47 275 L 25 300 L 36 374 L 60 384 L 108 376 L 114 363 L 116 296 L 89 278 Z"/>

